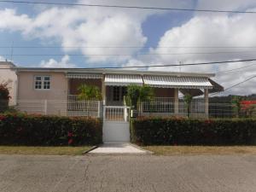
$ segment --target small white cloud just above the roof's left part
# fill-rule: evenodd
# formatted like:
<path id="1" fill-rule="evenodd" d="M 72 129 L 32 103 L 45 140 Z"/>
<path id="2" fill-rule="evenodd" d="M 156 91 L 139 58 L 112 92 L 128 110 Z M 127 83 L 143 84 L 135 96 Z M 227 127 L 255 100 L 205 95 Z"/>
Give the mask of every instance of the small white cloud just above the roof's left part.
<path id="1" fill-rule="evenodd" d="M 49 59 L 49 61 L 41 61 L 40 67 L 73 68 L 76 67 L 76 65 L 70 62 L 68 55 L 65 55 L 61 58 L 61 61 L 55 61 L 54 59 Z"/>

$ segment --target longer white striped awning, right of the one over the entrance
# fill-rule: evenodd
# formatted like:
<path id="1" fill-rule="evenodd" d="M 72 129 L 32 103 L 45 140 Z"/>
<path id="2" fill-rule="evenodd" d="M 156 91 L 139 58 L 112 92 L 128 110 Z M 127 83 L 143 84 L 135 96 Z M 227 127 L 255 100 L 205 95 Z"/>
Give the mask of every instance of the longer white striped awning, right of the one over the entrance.
<path id="1" fill-rule="evenodd" d="M 144 84 L 161 88 L 212 89 L 206 77 L 143 76 Z"/>

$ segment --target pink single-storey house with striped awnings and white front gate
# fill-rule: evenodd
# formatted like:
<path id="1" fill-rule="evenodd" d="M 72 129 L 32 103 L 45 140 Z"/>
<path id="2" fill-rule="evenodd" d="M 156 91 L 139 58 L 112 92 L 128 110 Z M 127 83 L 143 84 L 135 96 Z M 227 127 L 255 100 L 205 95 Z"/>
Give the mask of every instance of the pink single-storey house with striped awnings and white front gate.
<path id="1" fill-rule="evenodd" d="M 177 73 L 137 70 L 11 67 L 17 75 L 16 108 L 26 113 L 90 116 L 103 119 L 103 142 L 129 142 L 131 108 L 124 96 L 129 84 L 154 88 L 154 99 L 142 102 L 142 116 L 184 116 L 181 95 L 197 96 L 191 102 L 191 116 L 208 116 L 208 95 L 224 88 L 212 73 Z M 95 85 L 102 101 L 79 99 L 79 85 Z"/>

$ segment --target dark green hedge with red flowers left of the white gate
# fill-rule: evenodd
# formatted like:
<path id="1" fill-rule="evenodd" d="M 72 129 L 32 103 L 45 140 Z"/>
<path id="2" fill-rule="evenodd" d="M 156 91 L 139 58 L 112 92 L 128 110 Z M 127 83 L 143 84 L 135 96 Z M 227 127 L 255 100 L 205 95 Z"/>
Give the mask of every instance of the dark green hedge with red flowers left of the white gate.
<path id="1" fill-rule="evenodd" d="M 102 143 L 100 119 L 0 114 L 0 144 L 27 146 Z"/>

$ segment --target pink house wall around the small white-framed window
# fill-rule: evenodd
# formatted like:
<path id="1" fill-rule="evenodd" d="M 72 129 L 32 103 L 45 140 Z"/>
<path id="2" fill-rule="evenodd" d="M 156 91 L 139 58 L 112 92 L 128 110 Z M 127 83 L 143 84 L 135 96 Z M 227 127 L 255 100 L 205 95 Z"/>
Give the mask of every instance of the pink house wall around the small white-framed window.
<path id="1" fill-rule="evenodd" d="M 37 75 L 50 77 L 49 90 L 34 89 L 34 77 Z M 18 73 L 18 81 L 18 104 L 21 111 L 26 111 L 27 113 L 67 114 L 68 80 L 64 73 L 20 72 Z M 31 107 L 28 108 L 28 105 Z"/>

